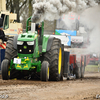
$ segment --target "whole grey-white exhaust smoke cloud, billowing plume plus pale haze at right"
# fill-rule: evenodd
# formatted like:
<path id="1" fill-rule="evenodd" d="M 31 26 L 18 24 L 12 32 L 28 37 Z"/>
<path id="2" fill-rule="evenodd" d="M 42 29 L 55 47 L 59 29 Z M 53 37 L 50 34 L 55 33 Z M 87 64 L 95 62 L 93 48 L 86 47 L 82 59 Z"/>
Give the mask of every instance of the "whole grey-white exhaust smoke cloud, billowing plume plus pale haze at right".
<path id="1" fill-rule="evenodd" d="M 80 15 L 80 23 L 88 28 L 90 45 L 85 53 L 100 52 L 100 5 L 99 0 L 36 0 L 33 4 L 34 23 L 53 21 L 63 14 L 74 12 Z M 98 6 L 97 6 L 98 5 Z M 94 7 L 96 6 L 96 7 Z M 67 22 L 68 27 L 72 24 Z"/>

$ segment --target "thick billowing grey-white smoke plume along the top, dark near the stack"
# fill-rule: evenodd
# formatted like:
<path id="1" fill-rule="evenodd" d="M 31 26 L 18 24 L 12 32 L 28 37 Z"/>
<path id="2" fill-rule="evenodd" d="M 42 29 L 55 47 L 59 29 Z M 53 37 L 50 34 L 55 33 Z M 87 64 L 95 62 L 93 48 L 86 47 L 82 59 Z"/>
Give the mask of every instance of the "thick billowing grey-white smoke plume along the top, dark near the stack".
<path id="1" fill-rule="evenodd" d="M 98 5 L 95 0 L 36 0 L 33 5 L 32 21 L 35 23 L 43 20 L 53 21 L 62 14 L 70 11 L 79 13 L 95 5 Z"/>

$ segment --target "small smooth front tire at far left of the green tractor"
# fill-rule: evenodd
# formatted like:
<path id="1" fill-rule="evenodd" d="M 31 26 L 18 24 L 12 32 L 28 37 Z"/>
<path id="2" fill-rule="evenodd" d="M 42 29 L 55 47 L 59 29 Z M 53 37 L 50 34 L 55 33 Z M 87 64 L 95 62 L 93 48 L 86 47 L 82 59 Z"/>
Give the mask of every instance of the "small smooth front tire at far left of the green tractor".
<path id="1" fill-rule="evenodd" d="M 1 75 L 3 80 L 8 80 L 10 77 L 8 74 L 8 67 L 9 67 L 9 60 L 4 59 L 1 64 Z"/>

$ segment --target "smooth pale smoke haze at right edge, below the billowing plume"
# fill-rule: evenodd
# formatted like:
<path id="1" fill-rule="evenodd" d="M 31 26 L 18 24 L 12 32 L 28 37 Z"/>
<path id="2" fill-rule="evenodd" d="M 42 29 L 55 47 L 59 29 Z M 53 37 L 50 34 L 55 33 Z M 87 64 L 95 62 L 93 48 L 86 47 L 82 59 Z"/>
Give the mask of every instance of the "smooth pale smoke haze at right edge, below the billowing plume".
<path id="1" fill-rule="evenodd" d="M 100 5 L 85 10 L 80 22 L 89 29 L 90 45 L 87 52 L 100 54 Z"/>

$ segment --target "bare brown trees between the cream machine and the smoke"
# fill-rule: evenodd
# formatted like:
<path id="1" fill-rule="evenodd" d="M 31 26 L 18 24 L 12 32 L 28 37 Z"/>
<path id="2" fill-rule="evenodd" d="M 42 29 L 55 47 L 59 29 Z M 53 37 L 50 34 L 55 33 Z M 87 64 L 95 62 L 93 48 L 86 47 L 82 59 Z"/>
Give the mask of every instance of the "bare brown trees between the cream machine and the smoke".
<path id="1" fill-rule="evenodd" d="M 23 23 L 25 28 L 26 20 L 32 15 L 34 0 L 6 0 L 6 9 L 17 14 L 17 22 Z"/>

